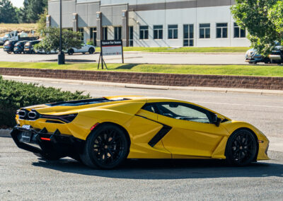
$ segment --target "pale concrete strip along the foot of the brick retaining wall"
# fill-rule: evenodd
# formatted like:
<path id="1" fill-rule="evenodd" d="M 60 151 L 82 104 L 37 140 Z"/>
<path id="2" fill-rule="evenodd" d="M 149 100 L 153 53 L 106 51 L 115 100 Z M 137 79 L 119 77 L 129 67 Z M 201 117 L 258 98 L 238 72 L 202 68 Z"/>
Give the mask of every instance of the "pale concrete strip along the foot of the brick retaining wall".
<path id="1" fill-rule="evenodd" d="M 158 85 L 146 85 L 146 84 L 128 84 L 128 83 L 114 83 L 104 81 L 82 81 L 82 80 L 69 80 L 69 79 L 51 79 L 51 78 L 35 78 L 27 76 L 5 76 L 3 79 L 13 81 L 32 81 L 42 82 L 50 81 L 53 83 L 64 84 L 81 84 L 81 85 L 93 85 L 93 86 L 110 86 L 110 87 L 122 87 L 122 88 L 144 88 L 144 89 L 157 89 L 157 90 L 184 90 L 184 91 L 212 91 L 220 93 L 253 93 L 260 95 L 275 95 L 283 96 L 281 90 L 267 90 L 267 89 L 249 89 L 249 88 L 216 88 L 216 87 L 201 87 L 201 86 L 158 86 Z"/>

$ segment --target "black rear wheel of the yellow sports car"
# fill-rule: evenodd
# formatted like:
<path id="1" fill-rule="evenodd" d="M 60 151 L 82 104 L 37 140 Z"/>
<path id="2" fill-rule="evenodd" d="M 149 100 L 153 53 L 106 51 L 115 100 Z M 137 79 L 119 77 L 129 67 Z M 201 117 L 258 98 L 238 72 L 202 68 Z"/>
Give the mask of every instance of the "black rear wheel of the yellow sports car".
<path id="1" fill-rule="evenodd" d="M 117 125 L 98 127 L 86 139 L 81 161 L 91 168 L 117 168 L 129 154 L 125 132 Z"/>

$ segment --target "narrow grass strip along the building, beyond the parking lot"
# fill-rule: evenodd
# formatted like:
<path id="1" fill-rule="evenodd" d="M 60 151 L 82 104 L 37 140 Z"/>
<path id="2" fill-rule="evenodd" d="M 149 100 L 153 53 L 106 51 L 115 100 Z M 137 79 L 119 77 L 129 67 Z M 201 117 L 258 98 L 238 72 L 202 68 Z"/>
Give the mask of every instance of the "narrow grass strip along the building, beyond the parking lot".
<path id="1" fill-rule="evenodd" d="M 250 47 L 124 47 L 125 52 L 240 52 L 246 53 Z M 100 52 L 100 47 L 96 47 L 96 52 Z"/>

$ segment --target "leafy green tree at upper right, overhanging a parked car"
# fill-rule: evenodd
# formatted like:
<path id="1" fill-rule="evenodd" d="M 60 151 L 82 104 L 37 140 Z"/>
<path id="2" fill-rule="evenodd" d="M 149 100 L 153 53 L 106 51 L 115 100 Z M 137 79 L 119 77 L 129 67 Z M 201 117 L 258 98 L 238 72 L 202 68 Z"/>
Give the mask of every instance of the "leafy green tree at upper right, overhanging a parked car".
<path id="1" fill-rule="evenodd" d="M 275 46 L 275 41 L 282 42 L 282 35 L 277 29 L 272 10 L 278 0 L 235 0 L 231 12 L 236 23 L 248 30 L 251 46 L 267 56 Z M 282 19 L 282 18 L 281 18 Z"/>

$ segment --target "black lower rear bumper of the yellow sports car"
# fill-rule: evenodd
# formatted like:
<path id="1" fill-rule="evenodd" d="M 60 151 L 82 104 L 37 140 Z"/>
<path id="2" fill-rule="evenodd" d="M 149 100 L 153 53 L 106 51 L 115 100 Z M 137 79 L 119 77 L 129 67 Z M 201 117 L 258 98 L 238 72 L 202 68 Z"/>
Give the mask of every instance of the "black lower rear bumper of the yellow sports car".
<path id="1" fill-rule="evenodd" d="M 30 136 L 28 140 L 23 140 L 23 133 Z M 59 154 L 62 157 L 79 154 L 84 145 L 84 141 L 71 135 L 61 134 L 59 130 L 54 133 L 46 129 L 36 131 L 23 127 L 14 127 L 11 137 L 16 145 L 26 151 L 38 154 Z"/>

